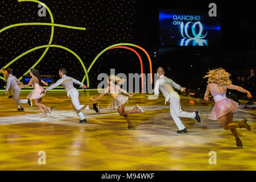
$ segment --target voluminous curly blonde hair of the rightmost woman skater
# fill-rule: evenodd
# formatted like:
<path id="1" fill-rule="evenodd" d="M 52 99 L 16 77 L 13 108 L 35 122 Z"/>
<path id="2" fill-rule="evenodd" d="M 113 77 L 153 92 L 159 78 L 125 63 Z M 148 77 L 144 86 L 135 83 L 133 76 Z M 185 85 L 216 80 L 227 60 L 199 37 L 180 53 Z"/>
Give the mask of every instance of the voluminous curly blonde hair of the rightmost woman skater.
<path id="1" fill-rule="evenodd" d="M 208 83 L 215 83 L 218 86 L 225 86 L 232 84 L 232 81 L 229 80 L 230 74 L 226 72 L 223 68 L 209 70 L 208 75 L 205 75 L 204 78 L 208 77 Z"/>

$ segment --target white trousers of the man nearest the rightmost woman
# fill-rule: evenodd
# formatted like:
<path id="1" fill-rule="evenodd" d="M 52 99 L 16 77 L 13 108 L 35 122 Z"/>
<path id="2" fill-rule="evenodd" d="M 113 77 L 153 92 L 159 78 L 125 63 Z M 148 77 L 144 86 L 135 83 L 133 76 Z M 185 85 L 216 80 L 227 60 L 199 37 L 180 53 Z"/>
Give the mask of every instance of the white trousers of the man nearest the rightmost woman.
<path id="1" fill-rule="evenodd" d="M 181 122 L 180 117 L 191 118 L 191 119 L 194 119 L 196 117 L 195 112 L 188 113 L 181 110 L 180 96 L 177 93 L 170 94 L 170 113 L 171 113 L 172 119 L 174 119 L 174 122 L 177 125 L 179 130 L 185 129 L 185 126 Z"/>

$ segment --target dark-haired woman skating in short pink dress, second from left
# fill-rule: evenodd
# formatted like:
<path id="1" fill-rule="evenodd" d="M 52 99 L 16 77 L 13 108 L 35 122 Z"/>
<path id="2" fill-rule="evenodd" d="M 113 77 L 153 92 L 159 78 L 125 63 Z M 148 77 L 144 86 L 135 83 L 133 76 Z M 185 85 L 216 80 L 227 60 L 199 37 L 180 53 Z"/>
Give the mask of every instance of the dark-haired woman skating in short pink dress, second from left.
<path id="1" fill-rule="evenodd" d="M 32 99 L 35 100 L 35 104 L 42 111 L 42 116 L 40 118 L 47 118 L 47 114 L 45 113 L 44 109 L 48 110 L 50 114 L 53 114 L 54 107 L 47 107 L 42 104 L 42 102 L 41 102 L 42 98 L 43 98 L 43 96 L 46 95 L 46 93 L 40 94 L 42 91 L 44 91 L 44 89 L 42 88 L 42 86 L 39 85 L 39 81 L 42 82 L 44 85 L 48 85 L 48 84 L 47 84 L 47 82 L 44 82 L 40 78 L 39 71 L 37 69 L 32 68 L 30 70 L 30 76 L 32 76 L 32 78 L 30 79 L 30 82 L 28 82 L 27 85 L 19 85 L 19 87 L 28 87 L 30 85 L 33 86 L 34 90 L 32 90 L 32 92 L 30 92 L 30 94 L 28 94 L 27 98 L 30 100 L 32 100 Z"/>

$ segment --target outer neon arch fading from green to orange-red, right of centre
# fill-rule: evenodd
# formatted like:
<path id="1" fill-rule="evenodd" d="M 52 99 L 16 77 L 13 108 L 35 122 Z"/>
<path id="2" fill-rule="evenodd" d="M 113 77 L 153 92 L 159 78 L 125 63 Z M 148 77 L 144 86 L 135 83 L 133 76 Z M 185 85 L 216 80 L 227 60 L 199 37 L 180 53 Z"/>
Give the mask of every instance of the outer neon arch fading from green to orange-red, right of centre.
<path id="1" fill-rule="evenodd" d="M 103 51 L 101 51 L 101 52 L 94 58 L 94 60 L 93 60 L 92 63 L 90 64 L 90 67 L 89 67 L 88 70 L 87 70 L 88 73 L 89 73 L 90 69 L 92 68 L 93 64 L 94 64 L 94 63 L 96 62 L 96 60 L 98 59 L 98 57 L 100 57 L 100 56 L 102 55 L 102 53 L 104 53 L 104 52 L 108 51 L 108 49 L 113 48 L 113 47 L 116 47 L 116 46 L 133 46 L 133 47 L 137 47 L 137 48 L 139 48 L 139 49 L 142 49 L 142 51 L 143 51 L 144 53 L 146 53 L 146 55 L 147 55 L 147 57 L 148 57 L 148 61 L 149 61 L 149 63 L 150 63 L 150 73 L 151 73 L 151 83 L 152 83 L 152 64 L 151 64 L 151 59 L 150 59 L 150 57 L 149 57 L 147 51 L 146 51 L 145 49 L 143 49 L 142 47 L 139 47 L 139 46 L 137 46 L 137 45 L 135 45 L 135 44 L 130 44 L 130 43 L 119 43 L 119 44 L 114 44 L 114 45 L 112 45 L 112 46 L 109 46 L 109 47 L 105 48 Z M 85 77 L 86 77 L 86 75 L 84 76 L 84 78 L 82 78 L 82 80 L 85 80 Z"/>

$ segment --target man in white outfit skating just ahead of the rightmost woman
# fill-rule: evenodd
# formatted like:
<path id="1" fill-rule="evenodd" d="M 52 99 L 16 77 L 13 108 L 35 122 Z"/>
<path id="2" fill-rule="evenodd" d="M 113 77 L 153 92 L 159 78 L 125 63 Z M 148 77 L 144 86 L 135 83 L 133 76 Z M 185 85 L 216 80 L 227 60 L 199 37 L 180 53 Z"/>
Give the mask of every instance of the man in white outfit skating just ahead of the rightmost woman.
<path id="1" fill-rule="evenodd" d="M 181 110 L 180 106 L 180 96 L 177 92 L 174 91 L 174 88 L 179 89 L 181 92 L 185 91 L 185 88 L 182 88 L 179 84 L 176 84 L 170 78 L 164 76 L 164 69 L 159 67 L 157 70 L 159 79 L 155 82 L 155 95 L 159 95 L 159 89 L 163 93 L 163 96 L 166 98 L 165 104 L 167 101 L 170 101 L 170 113 L 172 119 L 174 119 L 175 124 L 178 127 L 177 133 L 187 133 L 187 129 L 180 121 L 179 117 L 196 119 L 197 122 L 201 122 L 200 115 L 198 111 L 193 113 L 188 113 Z M 174 88 L 173 88 L 174 86 Z"/>

